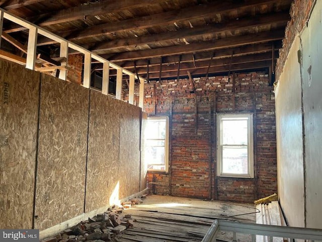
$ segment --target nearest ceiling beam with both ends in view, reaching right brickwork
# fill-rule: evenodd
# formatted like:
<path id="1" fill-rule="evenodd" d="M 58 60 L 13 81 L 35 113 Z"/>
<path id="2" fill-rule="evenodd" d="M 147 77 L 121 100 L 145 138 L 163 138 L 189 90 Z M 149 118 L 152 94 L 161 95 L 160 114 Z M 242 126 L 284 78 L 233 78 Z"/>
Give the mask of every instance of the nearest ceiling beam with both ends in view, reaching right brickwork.
<path id="1" fill-rule="evenodd" d="M 243 19 L 229 21 L 227 23 L 213 23 L 206 26 L 180 29 L 153 35 L 140 36 L 127 39 L 116 39 L 103 41 L 91 50 L 98 54 L 104 54 L 106 50 L 113 50 L 121 47 L 134 47 L 142 44 L 150 44 L 159 41 L 178 41 L 183 42 L 183 38 L 202 36 L 205 34 L 219 34 L 225 31 L 236 31 L 243 28 L 257 27 L 266 24 L 286 23 L 289 20 L 289 13 L 273 13 L 261 16 L 252 16 Z"/>

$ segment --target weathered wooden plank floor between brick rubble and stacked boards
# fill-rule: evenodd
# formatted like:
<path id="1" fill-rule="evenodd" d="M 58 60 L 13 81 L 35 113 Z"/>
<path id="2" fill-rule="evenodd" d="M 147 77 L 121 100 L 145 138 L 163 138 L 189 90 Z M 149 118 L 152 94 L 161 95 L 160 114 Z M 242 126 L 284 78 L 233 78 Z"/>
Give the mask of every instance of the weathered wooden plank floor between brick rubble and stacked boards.
<path id="1" fill-rule="evenodd" d="M 120 235 L 119 241 L 201 241 L 214 219 L 256 223 L 256 211 L 254 204 L 149 195 L 142 204 L 123 212 L 132 215 L 134 227 Z M 230 242 L 232 233 L 220 231 L 218 238 Z M 237 234 L 237 241 L 252 239 Z"/>

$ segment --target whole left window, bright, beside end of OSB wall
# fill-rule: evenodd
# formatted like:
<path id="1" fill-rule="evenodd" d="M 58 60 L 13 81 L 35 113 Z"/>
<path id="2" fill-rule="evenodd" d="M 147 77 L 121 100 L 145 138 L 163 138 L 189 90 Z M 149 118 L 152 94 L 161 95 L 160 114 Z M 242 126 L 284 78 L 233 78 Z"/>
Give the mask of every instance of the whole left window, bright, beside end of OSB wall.
<path id="1" fill-rule="evenodd" d="M 168 117 L 148 117 L 146 126 L 145 156 L 148 170 L 168 172 Z"/>

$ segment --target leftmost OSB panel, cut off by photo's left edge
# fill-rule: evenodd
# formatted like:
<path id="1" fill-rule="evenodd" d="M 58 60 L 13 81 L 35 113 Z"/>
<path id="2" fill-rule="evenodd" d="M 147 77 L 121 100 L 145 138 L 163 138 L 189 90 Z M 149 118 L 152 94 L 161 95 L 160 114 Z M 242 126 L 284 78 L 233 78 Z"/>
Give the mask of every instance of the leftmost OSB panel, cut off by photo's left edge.
<path id="1" fill-rule="evenodd" d="M 39 81 L 0 61 L 0 228 L 32 228 Z"/>

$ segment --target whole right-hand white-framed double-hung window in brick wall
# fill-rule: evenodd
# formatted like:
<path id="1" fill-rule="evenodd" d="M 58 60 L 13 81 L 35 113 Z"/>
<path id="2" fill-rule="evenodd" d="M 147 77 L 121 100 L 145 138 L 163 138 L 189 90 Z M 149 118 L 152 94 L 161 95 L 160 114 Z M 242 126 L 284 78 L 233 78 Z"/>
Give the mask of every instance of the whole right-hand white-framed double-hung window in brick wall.
<path id="1" fill-rule="evenodd" d="M 254 178 L 253 114 L 217 114 L 217 175 Z"/>

